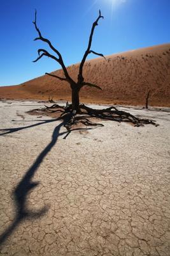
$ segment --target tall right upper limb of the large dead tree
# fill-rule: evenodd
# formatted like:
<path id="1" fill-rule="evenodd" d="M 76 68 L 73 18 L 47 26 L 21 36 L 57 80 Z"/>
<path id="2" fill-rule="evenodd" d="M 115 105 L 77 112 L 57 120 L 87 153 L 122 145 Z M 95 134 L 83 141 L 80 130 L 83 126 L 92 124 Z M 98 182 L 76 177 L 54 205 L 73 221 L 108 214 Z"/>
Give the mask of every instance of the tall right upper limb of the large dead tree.
<path id="1" fill-rule="evenodd" d="M 86 60 L 88 54 L 90 53 L 90 47 L 92 45 L 92 37 L 93 37 L 93 34 L 94 34 L 94 29 L 95 29 L 96 26 L 98 26 L 97 22 L 99 21 L 99 19 L 104 19 L 104 17 L 101 16 L 101 10 L 99 10 L 99 16 L 97 17 L 97 20 L 92 25 L 92 30 L 91 30 L 90 37 L 89 37 L 89 44 L 87 46 L 87 50 L 85 51 L 83 59 L 81 60 L 81 63 L 80 63 L 79 74 L 78 74 L 78 83 L 82 83 L 83 80 L 84 80 L 84 78 L 83 78 L 83 65 L 85 64 L 85 60 Z"/>

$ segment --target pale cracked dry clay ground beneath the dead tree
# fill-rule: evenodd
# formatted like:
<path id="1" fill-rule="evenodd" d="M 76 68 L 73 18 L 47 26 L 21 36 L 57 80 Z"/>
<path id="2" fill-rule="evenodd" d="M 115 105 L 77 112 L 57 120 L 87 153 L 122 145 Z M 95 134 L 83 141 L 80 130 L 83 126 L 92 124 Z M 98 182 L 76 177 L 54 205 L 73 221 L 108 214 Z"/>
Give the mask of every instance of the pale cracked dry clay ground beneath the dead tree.
<path id="1" fill-rule="evenodd" d="M 0 137 L 0 254 L 169 256 L 169 112 L 126 109 L 160 126 L 103 122 L 63 140 L 61 121 L 25 113 L 37 105 L 0 102 L 1 129 L 30 126 Z M 21 208 L 33 214 L 18 220 Z"/>

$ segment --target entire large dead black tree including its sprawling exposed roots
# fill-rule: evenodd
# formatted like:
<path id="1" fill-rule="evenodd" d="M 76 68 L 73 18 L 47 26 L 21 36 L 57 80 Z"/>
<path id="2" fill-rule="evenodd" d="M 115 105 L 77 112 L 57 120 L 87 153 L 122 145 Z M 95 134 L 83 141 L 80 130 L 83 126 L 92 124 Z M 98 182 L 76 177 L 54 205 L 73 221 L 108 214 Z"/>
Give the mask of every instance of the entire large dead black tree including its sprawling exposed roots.
<path id="1" fill-rule="evenodd" d="M 33 62 L 40 60 L 43 56 L 46 56 L 46 57 L 52 58 L 53 60 L 57 61 L 60 64 L 60 66 L 62 67 L 62 70 L 64 72 L 64 77 L 55 76 L 55 75 L 49 74 L 49 73 L 45 73 L 45 74 L 48 76 L 55 77 L 56 79 L 60 79 L 61 81 L 66 81 L 69 84 L 69 86 L 71 87 L 71 92 L 72 92 L 72 97 L 71 97 L 72 103 L 66 104 L 66 107 L 59 106 L 58 104 L 53 104 L 50 107 L 45 106 L 45 108 L 43 108 L 43 109 L 33 109 L 33 111 L 38 111 L 38 113 L 39 113 L 39 111 L 45 111 L 48 113 L 49 112 L 52 112 L 52 113 L 60 112 L 61 113 L 60 116 L 63 116 L 63 118 L 64 118 L 64 115 L 67 115 L 67 113 L 69 112 L 70 119 L 67 122 L 67 124 L 65 125 L 67 130 L 71 129 L 71 127 L 74 124 L 76 125 L 78 123 L 81 123 L 84 125 L 101 125 L 101 126 L 103 126 L 103 124 L 98 124 L 98 123 L 96 124 L 96 123 L 90 122 L 89 118 L 94 118 L 94 117 L 102 119 L 102 120 L 113 120 L 116 122 L 122 122 L 122 121 L 131 122 L 132 124 L 134 124 L 134 126 L 141 126 L 144 124 L 153 124 L 153 125 L 157 126 L 157 124 L 155 124 L 155 122 L 153 122 L 153 120 L 138 118 L 138 117 L 133 116 L 130 113 L 127 113 L 125 111 L 119 111 L 114 106 L 111 106 L 110 108 L 106 108 L 106 109 L 92 109 L 83 104 L 80 104 L 79 93 L 83 86 L 90 86 L 90 87 L 94 87 L 99 90 L 102 90 L 101 87 L 97 86 L 96 84 L 92 84 L 92 83 L 89 83 L 88 81 L 85 81 L 85 79 L 83 77 L 83 67 L 85 65 L 87 56 L 90 53 L 96 54 L 97 56 L 101 56 L 104 58 L 103 54 L 91 50 L 94 29 L 98 25 L 98 22 L 100 19 L 104 19 L 104 17 L 101 15 L 101 11 L 99 10 L 99 15 L 98 15 L 97 19 L 94 21 L 94 23 L 92 24 L 92 29 L 91 29 L 90 36 L 89 36 L 89 43 L 87 45 L 87 49 L 86 49 L 86 51 L 83 55 L 83 58 L 81 60 L 81 63 L 80 63 L 77 81 L 74 81 L 73 78 L 71 78 L 69 76 L 69 73 L 67 72 L 67 68 L 64 65 L 64 61 L 62 60 L 62 56 L 61 56 L 60 52 L 57 49 L 55 49 L 55 47 L 53 47 L 50 40 L 48 40 L 47 38 L 42 36 L 42 34 L 37 26 L 37 23 L 36 23 L 36 12 L 35 12 L 35 20 L 33 21 L 33 24 L 36 28 L 36 31 L 38 32 L 38 37 L 36 37 L 34 40 L 41 40 L 41 41 L 45 42 L 46 44 L 48 44 L 50 49 L 54 52 L 54 55 L 50 54 L 45 49 L 38 49 L 38 58 L 36 58 L 36 60 L 34 60 Z M 106 60 L 106 58 L 104 58 L 104 59 Z M 76 115 L 76 114 L 81 114 L 81 115 Z"/>

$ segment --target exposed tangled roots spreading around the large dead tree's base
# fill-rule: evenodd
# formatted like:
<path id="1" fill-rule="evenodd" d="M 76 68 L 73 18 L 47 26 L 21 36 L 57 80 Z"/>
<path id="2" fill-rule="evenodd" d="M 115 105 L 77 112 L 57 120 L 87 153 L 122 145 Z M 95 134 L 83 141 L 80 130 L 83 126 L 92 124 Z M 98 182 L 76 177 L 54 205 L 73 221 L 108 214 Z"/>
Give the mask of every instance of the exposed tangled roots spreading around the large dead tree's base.
<path id="1" fill-rule="evenodd" d="M 91 122 L 89 119 L 92 118 L 99 118 L 101 120 L 112 120 L 116 122 L 129 122 L 133 124 L 136 127 L 143 126 L 145 124 L 152 124 L 156 127 L 158 124 L 155 124 L 154 120 L 149 119 L 143 119 L 136 117 L 134 115 L 131 115 L 130 113 L 127 113 L 125 111 L 118 110 L 114 106 L 111 106 L 110 108 L 105 109 L 92 109 L 89 108 L 83 104 L 80 105 L 79 112 L 76 113 L 76 111 L 73 111 L 72 105 L 66 104 L 66 106 L 60 106 L 58 104 L 53 104 L 52 106 L 48 107 L 45 106 L 45 108 L 41 109 L 33 109 L 31 112 L 39 111 L 45 112 L 45 113 L 60 113 L 60 117 L 64 118 L 66 115 L 70 115 L 69 120 L 64 125 L 66 127 L 67 131 L 71 129 L 74 125 L 77 124 L 83 124 L 83 125 L 90 125 L 90 126 L 104 126 L 100 123 L 94 123 Z"/>

